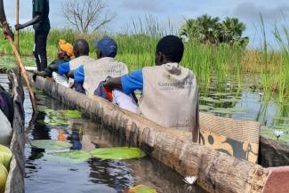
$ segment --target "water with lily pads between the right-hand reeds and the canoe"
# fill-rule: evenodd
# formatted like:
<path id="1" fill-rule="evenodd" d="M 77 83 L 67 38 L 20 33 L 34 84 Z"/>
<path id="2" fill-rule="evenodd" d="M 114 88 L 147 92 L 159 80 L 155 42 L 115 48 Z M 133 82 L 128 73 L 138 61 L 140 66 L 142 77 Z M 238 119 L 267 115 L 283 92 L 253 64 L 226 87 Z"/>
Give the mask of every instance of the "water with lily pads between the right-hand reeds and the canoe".
<path id="1" fill-rule="evenodd" d="M 201 85 L 200 110 L 221 117 L 260 122 L 261 135 L 277 140 L 274 131 L 280 130 L 283 135 L 278 140 L 288 143 L 289 103 L 266 101 L 263 92 L 254 88 L 258 78 L 258 75 L 243 76 L 242 88 L 232 82 Z"/>

